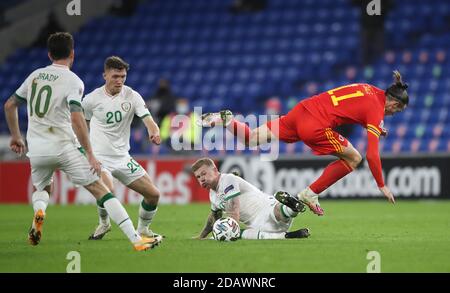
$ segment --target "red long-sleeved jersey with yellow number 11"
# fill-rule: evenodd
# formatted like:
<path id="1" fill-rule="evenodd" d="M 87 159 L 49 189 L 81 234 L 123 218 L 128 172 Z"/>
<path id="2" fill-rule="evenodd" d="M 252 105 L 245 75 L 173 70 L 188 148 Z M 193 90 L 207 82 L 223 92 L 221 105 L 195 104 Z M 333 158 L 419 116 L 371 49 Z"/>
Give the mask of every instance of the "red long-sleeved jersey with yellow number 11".
<path id="1" fill-rule="evenodd" d="M 366 158 L 378 187 L 383 187 L 378 150 L 383 128 L 384 91 L 364 83 L 341 86 L 300 102 L 323 128 L 341 124 L 360 124 L 367 129 Z M 301 117 L 298 117 L 301 120 Z"/>

